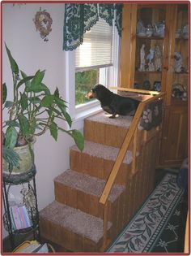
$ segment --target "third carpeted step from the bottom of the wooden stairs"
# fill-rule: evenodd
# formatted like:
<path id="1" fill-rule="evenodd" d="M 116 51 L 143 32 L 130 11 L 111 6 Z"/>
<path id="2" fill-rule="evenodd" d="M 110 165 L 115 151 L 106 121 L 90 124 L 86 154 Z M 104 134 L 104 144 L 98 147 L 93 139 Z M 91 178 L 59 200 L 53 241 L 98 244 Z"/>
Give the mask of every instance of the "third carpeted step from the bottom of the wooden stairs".
<path id="1" fill-rule="evenodd" d="M 70 168 L 74 171 L 108 180 L 119 153 L 119 148 L 91 141 L 85 141 L 84 145 L 83 152 L 79 151 L 76 145 L 70 148 Z M 117 175 L 116 184 L 125 184 L 125 181 L 131 176 L 132 161 L 132 151 L 127 150 Z"/>

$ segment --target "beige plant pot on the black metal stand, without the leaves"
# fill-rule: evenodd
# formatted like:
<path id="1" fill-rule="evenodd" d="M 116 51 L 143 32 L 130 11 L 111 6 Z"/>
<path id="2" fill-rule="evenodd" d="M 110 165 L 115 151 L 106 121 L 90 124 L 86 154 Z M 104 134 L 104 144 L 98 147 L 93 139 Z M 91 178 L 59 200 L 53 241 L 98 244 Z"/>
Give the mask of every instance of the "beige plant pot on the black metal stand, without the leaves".
<path id="1" fill-rule="evenodd" d="M 34 143 L 36 142 L 36 139 L 34 139 L 31 143 L 32 151 L 34 150 Z M 28 172 L 33 167 L 32 162 L 32 154 L 29 150 L 28 145 L 22 145 L 14 148 L 15 152 L 19 154 L 19 168 L 13 167 L 13 170 L 11 171 L 11 175 L 20 175 L 25 172 Z M 8 163 L 3 159 L 2 162 L 3 172 L 5 174 L 10 174 L 9 171 L 9 165 Z"/>

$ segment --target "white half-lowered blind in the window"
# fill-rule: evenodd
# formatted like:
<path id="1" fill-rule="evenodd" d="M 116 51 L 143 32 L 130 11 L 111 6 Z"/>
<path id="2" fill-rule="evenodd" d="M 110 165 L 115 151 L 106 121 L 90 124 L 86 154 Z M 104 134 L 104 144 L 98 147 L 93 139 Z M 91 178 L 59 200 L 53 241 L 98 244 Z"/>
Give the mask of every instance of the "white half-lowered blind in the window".
<path id="1" fill-rule="evenodd" d="M 91 30 L 84 34 L 83 44 L 75 50 L 77 72 L 112 66 L 113 27 L 103 19 L 99 19 Z"/>

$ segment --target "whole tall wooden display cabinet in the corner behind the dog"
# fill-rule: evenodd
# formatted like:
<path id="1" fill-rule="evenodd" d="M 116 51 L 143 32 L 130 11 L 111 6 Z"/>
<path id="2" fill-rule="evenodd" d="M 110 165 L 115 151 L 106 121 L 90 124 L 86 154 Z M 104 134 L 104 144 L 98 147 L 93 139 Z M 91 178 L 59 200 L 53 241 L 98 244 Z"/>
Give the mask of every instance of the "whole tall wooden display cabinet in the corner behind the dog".
<path id="1" fill-rule="evenodd" d="M 138 20 L 146 27 L 164 21 L 163 36 L 153 34 L 147 37 L 138 34 Z M 121 38 L 121 87 L 134 88 L 134 83 L 143 88 L 149 80 L 154 90 L 155 81 L 160 82 L 160 91 L 166 93 L 163 104 L 163 129 L 159 150 L 159 167 L 180 166 L 188 156 L 188 99 L 172 97 L 176 84 L 188 92 L 189 77 L 189 38 L 180 33 L 188 24 L 188 4 L 124 4 Z M 178 30 L 179 29 L 179 30 Z M 162 53 L 160 71 L 140 71 L 140 50 L 145 45 L 145 59 L 150 49 L 159 46 Z M 183 59 L 181 72 L 175 70 L 174 54 Z M 147 60 L 146 60 L 147 61 Z M 147 64 L 147 63 L 146 63 Z M 182 86 L 183 85 L 183 86 Z"/>

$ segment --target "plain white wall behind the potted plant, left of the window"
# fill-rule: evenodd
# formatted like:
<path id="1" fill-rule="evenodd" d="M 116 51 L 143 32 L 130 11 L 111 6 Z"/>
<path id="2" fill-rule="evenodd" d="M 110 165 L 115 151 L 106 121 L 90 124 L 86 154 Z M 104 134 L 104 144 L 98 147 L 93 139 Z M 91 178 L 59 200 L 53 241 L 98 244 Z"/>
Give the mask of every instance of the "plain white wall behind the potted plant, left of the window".
<path id="1" fill-rule="evenodd" d="M 45 42 L 36 31 L 33 19 L 36 11 L 46 10 L 50 13 L 53 24 L 49 41 Z M 64 84 L 65 71 L 62 50 L 62 31 L 64 20 L 63 3 L 41 3 L 15 5 L 2 4 L 2 41 L 11 50 L 19 68 L 28 75 L 33 75 L 38 69 L 46 70 L 45 85 L 53 92 L 58 87 L 63 98 L 66 98 Z M 4 44 L 2 44 L 2 81 L 8 87 L 8 98 L 11 99 L 11 70 Z M 82 129 L 83 122 L 80 121 Z M 57 142 L 49 136 L 49 131 L 42 137 L 37 137 L 35 145 L 36 155 L 36 189 L 39 210 L 44 208 L 54 199 L 53 179 L 66 171 L 69 167 L 69 148 L 74 141 L 66 135 L 59 134 Z M 19 196 L 19 190 L 17 189 Z M 6 235 L 4 232 L 3 236 Z"/>

